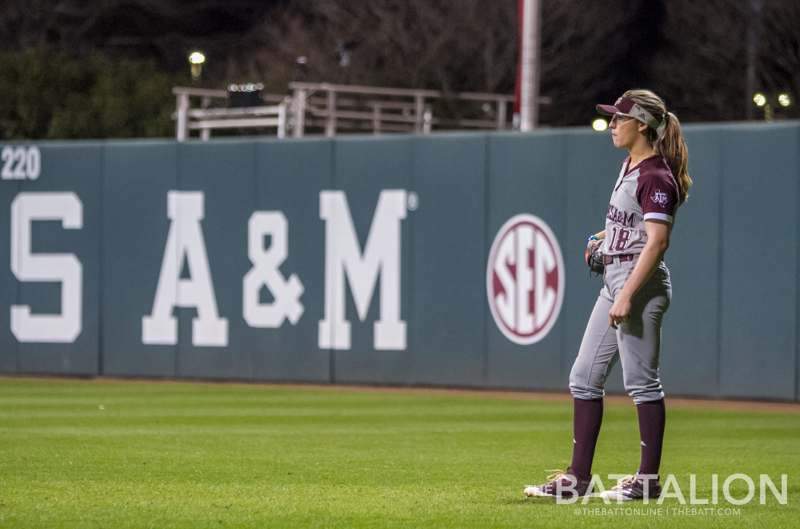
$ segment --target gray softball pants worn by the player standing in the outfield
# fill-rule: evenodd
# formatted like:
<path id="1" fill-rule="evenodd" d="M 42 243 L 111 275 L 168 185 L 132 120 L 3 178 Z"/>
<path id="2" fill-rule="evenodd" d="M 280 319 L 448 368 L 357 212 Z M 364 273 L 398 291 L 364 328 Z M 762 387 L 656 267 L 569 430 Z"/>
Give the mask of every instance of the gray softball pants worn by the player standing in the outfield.
<path id="1" fill-rule="evenodd" d="M 631 300 L 628 323 L 618 329 L 608 324 L 608 312 L 622 286 L 634 270 L 633 261 L 606 264 L 603 288 L 583 334 L 578 358 L 570 372 L 570 392 L 582 400 L 600 399 L 611 368 L 622 360 L 622 378 L 628 395 L 635 404 L 664 397 L 658 380 L 658 353 L 661 348 L 661 322 L 670 306 L 672 286 L 670 271 L 664 263 Z"/>

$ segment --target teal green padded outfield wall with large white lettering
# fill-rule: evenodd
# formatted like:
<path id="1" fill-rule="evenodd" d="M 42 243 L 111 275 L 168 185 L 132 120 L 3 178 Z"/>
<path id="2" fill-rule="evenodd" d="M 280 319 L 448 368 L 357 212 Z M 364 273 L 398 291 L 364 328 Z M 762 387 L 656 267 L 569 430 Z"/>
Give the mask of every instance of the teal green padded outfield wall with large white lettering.
<path id="1" fill-rule="evenodd" d="M 694 187 L 665 258 L 674 291 L 662 332 L 665 391 L 798 400 L 800 125 L 689 125 L 685 134 Z M 602 287 L 583 250 L 603 227 L 626 156 L 607 133 L 584 129 L 2 148 L 0 260 L 12 266 L 0 272 L 0 372 L 553 390 L 566 390 Z M 346 209 L 334 220 L 325 212 L 341 200 L 335 192 Z M 202 219 L 187 213 L 198 200 Z M 78 205 L 80 226 L 70 227 L 61 219 Z M 487 292 L 493 242 L 523 213 L 549 227 L 562 255 L 558 272 L 540 276 L 533 256 L 543 247 L 530 253 L 530 313 L 550 306 L 537 292 L 562 295 L 532 344 L 501 331 Z M 249 244 L 279 246 L 281 216 L 285 260 L 254 265 Z M 253 217 L 278 231 L 250 233 Z M 179 263 L 166 263 L 167 241 Z M 70 256 L 79 285 L 63 264 Z M 165 266 L 178 272 L 159 286 Z M 248 275 L 271 278 L 250 286 L 262 316 L 246 315 Z M 291 276 L 302 311 L 290 318 Z M 63 285 L 80 287 L 79 306 Z M 156 317 L 159 288 L 178 306 Z M 326 307 L 340 301 L 349 333 L 320 324 L 335 320 Z M 33 316 L 14 324 L 20 307 Z M 264 324 L 270 310 L 280 322 Z M 37 323 L 41 315 L 53 324 Z M 149 337 L 147 317 L 157 320 Z M 383 338 L 376 321 L 388 328 Z M 619 366 L 607 389 L 623 390 Z"/>

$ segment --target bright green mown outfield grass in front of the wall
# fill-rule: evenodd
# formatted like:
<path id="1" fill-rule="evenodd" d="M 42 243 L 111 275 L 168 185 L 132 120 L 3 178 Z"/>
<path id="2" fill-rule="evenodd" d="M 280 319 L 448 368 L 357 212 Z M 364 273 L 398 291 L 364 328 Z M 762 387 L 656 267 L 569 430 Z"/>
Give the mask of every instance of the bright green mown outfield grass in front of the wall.
<path id="1" fill-rule="evenodd" d="M 674 498 L 525 498 L 545 469 L 569 465 L 566 400 L 0 378 L 0 527 L 800 526 L 800 415 L 667 407 L 662 476 L 676 475 L 688 502 L 690 473 L 699 498 L 718 474 L 714 507 L 738 514 L 691 515 L 709 506 Z M 638 459 L 634 405 L 606 404 L 594 471 L 630 473 Z M 741 506 L 722 495 L 737 472 L 756 487 Z M 759 503 L 760 474 L 778 488 L 789 476 L 786 505 L 769 490 Z M 604 507 L 622 511 L 575 514 Z"/>

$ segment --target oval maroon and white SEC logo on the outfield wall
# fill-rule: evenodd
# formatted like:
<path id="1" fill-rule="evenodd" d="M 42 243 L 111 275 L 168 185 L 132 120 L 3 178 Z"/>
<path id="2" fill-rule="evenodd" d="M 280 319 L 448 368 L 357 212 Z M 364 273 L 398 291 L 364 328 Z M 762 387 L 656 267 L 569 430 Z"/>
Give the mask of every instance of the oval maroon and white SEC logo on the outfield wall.
<path id="1" fill-rule="evenodd" d="M 494 323 L 515 344 L 542 340 L 564 300 L 564 260 L 542 219 L 511 217 L 494 237 L 486 266 L 486 294 Z"/>

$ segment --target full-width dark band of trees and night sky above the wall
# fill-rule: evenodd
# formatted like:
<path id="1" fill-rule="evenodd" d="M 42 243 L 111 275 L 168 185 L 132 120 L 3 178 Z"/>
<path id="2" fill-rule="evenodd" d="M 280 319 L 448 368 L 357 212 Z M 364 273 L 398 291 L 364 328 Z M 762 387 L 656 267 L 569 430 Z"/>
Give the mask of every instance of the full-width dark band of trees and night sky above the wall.
<path id="1" fill-rule="evenodd" d="M 517 13 L 517 0 L 6 0 L 0 97 L 14 104 L 0 135 L 170 135 L 169 88 L 189 82 L 195 48 L 205 86 L 283 93 L 302 75 L 511 93 Z M 544 125 L 585 125 L 631 87 L 654 89 L 682 121 L 744 119 L 752 89 L 800 100 L 797 0 L 542 0 L 542 20 Z"/>

